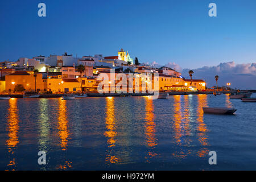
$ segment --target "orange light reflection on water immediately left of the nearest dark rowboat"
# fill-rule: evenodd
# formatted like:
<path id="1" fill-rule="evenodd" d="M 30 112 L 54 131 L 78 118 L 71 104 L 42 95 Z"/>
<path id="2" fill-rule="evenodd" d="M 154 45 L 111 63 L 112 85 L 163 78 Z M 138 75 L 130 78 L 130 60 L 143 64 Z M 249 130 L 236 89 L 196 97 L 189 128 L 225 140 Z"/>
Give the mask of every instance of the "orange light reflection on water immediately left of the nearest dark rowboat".
<path id="1" fill-rule="evenodd" d="M 197 152 L 197 155 L 200 157 L 204 157 L 206 155 L 208 155 L 209 150 L 205 147 L 205 146 L 209 146 L 208 144 L 208 137 L 207 137 L 207 126 L 204 123 L 204 111 L 202 107 L 207 107 L 208 103 L 207 103 L 207 95 L 206 94 L 199 94 L 197 95 L 197 100 L 198 100 L 198 104 L 197 104 L 197 130 L 199 131 L 199 133 L 197 134 L 197 136 L 199 137 L 198 140 L 201 144 L 201 146 L 203 146 L 203 148 L 201 148 L 201 150 L 199 150 Z"/>

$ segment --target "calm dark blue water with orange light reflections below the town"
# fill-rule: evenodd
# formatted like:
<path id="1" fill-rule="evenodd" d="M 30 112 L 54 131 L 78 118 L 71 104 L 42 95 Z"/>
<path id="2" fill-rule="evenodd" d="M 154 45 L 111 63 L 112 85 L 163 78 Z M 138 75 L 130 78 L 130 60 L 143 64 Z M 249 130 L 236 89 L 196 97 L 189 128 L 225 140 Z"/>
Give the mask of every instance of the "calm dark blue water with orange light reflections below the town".
<path id="1" fill-rule="evenodd" d="M 203 114 L 202 106 L 237 112 Z M 226 94 L 12 98 L 0 101 L 0 112 L 1 170 L 256 169 L 256 103 Z M 38 164 L 40 150 L 46 165 Z"/>

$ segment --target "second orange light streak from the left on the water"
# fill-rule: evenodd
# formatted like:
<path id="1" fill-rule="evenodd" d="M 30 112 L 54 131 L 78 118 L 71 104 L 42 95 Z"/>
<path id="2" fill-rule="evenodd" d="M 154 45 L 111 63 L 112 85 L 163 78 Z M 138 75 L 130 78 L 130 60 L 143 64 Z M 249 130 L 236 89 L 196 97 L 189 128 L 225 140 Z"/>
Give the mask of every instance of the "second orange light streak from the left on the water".
<path id="1" fill-rule="evenodd" d="M 60 147 L 63 151 L 67 150 L 69 137 L 66 102 L 66 100 L 59 99 L 59 117 L 57 129 L 59 130 L 58 134 L 60 137 Z"/>

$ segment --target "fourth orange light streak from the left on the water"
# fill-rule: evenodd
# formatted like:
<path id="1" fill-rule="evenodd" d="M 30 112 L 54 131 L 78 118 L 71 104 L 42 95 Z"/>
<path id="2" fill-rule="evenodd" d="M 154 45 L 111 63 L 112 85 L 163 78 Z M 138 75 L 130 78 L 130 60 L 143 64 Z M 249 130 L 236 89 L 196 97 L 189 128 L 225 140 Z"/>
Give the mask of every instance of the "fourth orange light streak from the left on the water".
<path id="1" fill-rule="evenodd" d="M 152 158 L 157 154 L 154 152 L 155 146 L 158 144 L 155 137 L 155 115 L 154 115 L 154 104 L 153 100 L 148 97 L 144 97 L 146 101 L 146 115 L 145 115 L 145 135 L 146 135 L 146 146 L 149 147 L 148 156 Z M 146 157 L 147 158 L 147 157 Z M 148 162 L 148 161 L 147 161 Z"/>

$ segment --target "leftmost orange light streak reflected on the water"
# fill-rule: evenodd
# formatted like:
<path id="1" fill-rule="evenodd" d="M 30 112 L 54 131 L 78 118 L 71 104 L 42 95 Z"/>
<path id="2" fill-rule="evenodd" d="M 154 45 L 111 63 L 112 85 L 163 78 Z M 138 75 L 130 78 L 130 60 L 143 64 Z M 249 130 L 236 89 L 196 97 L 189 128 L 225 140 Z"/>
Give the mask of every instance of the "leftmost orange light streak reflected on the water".
<path id="1" fill-rule="evenodd" d="M 8 121 L 7 121 L 7 131 L 9 139 L 6 140 L 6 145 L 9 152 L 10 162 L 7 166 L 16 167 L 16 161 L 14 156 L 14 151 L 19 143 L 19 118 L 18 118 L 18 108 L 17 108 L 17 99 L 11 98 L 9 100 L 9 113 L 8 113 Z"/>

